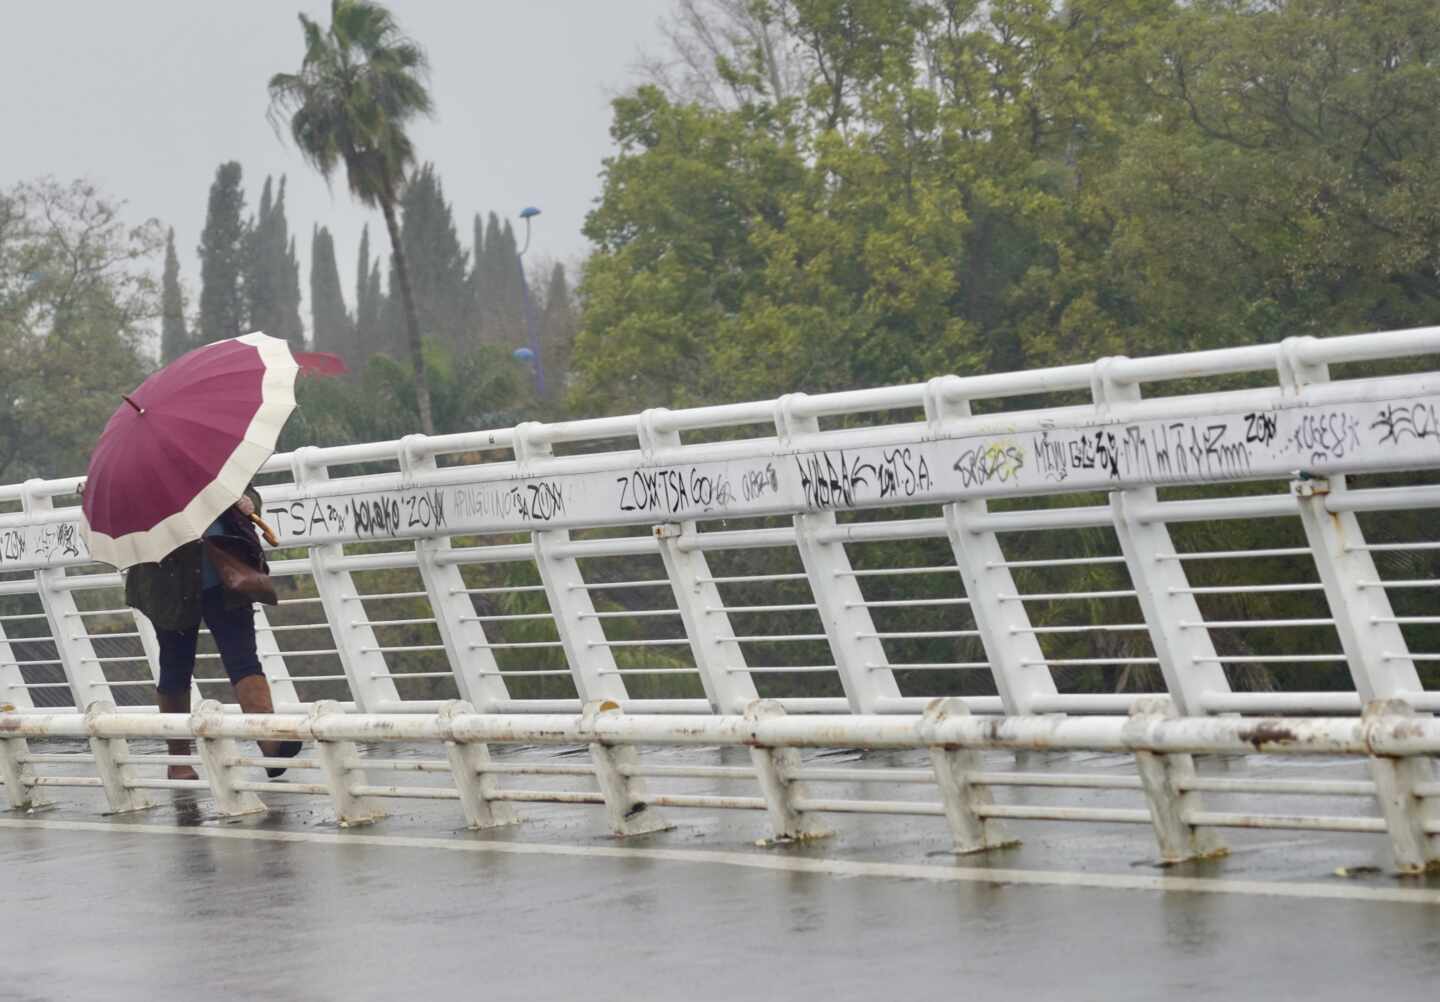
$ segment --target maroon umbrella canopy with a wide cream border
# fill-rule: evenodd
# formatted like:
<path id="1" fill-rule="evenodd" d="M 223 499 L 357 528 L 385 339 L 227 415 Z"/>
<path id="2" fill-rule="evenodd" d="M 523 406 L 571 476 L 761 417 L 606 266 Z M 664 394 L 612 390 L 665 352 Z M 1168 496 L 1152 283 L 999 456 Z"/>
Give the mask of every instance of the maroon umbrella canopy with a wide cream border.
<path id="1" fill-rule="evenodd" d="M 285 341 L 256 331 L 202 346 L 141 383 L 91 455 L 91 556 L 130 567 L 200 538 L 275 451 L 300 369 Z"/>

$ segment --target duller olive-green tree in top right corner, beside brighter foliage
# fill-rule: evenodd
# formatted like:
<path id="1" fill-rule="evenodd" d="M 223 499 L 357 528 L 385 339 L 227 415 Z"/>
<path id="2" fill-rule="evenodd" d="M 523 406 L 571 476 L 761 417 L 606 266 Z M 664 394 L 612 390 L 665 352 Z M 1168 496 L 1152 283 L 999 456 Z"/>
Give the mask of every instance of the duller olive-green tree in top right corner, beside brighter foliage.
<path id="1" fill-rule="evenodd" d="M 1140 315 L 1204 344 L 1434 322 L 1436 4 L 1200 0 L 1143 50 L 1156 114 L 1097 177 Z"/>

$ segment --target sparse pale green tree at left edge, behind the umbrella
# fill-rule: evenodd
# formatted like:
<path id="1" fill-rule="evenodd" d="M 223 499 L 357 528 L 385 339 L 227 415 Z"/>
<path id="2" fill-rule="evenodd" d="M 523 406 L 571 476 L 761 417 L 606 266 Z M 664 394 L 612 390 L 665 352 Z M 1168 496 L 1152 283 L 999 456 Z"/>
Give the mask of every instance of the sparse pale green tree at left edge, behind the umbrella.
<path id="1" fill-rule="evenodd" d="M 160 318 L 145 274 L 160 223 L 127 226 L 91 184 L 0 191 L 0 478 L 82 471 L 105 422 L 148 370 Z"/>

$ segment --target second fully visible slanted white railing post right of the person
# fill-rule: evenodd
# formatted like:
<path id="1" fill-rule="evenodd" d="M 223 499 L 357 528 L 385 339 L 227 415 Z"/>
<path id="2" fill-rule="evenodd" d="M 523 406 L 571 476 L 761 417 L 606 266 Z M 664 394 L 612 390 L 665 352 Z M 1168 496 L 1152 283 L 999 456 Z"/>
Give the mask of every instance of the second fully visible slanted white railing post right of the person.
<path id="1" fill-rule="evenodd" d="M 436 469 L 435 455 L 425 448 L 425 442 L 423 435 L 406 435 L 400 439 L 400 475 L 406 484 Z M 459 698 L 481 713 L 494 713 L 497 705 L 510 698 L 510 690 L 497 674 L 500 667 L 488 646 L 484 626 L 475 622 L 475 603 L 465 592 L 459 567 L 442 559 L 449 550 L 448 536 L 415 540 L 415 563 L 420 569 L 445 656 L 455 672 Z"/>

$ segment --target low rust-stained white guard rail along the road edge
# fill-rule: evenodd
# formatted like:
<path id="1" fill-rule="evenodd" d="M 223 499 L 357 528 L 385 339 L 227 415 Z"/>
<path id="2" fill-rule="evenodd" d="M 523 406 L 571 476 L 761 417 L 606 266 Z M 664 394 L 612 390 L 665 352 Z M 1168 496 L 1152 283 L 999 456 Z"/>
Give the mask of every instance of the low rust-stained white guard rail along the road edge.
<path id="1" fill-rule="evenodd" d="M 82 740 L 88 752 L 33 752 L 27 740 Z M 193 740 L 192 754 L 145 754 L 131 740 Z M 314 753 L 266 759 L 240 753 L 240 740 L 300 740 Z M 444 759 L 383 759 L 359 744 L 438 744 Z M 495 760 L 490 746 L 586 746 L 589 762 Z M 657 747 L 746 749 L 749 764 L 660 764 L 639 750 Z M 801 760 L 801 749 L 917 750 L 929 767 L 824 767 Z M 986 770 L 981 753 L 1090 752 L 1133 756 L 1136 775 Z M 1194 756 L 1361 756 L 1369 780 L 1266 779 L 1201 775 Z M 1128 717 L 972 717 L 959 700 L 936 700 L 923 714 L 788 717 L 775 703 L 753 703 L 743 716 L 626 716 L 611 701 L 579 716 L 477 714 L 452 701 L 433 716 L 350 714 L 318 703 L 308 714 L 226 713 L 207 700 L 186 714 L 121 713 L 95 703 L 79 713 L 0 711 L 0 779 L 12 809 L 49 805 L 55 787 L 101 787 L 112 812 L 153 805 L 147 790 L 190 789 L 215 799 L 216 813 L 265 811 L 259 793 L 330 798 L 341 825 L 377 821 L 386 799 L 458 800 L 471 828 L 518 821 L 517 802 L 602 806 L 615 835 L 670 828 L 671 809 L 765 812 L 776 842 L 829 834 L 821 815 L 943 818 L 956 852 L 1014 844 L 1007 821 L 1148 823 L 1159 857 L 1176 862 L 1223 854 L 1220 829 L 1279 828 L 1388 834 L 1395 867 L 1416 872 L 1440 865 L 1440 720 L 1405 703 L 1368 705 L 1358 718 L 1176 717 L 1166 698 L 1148 698 Z M 154 766 L 194 764 L 203 779 L 141 775 Z M 89 775 L 76 775 L 81 766 Z M 284 766 L 318 773 L 318 782 L 258 782 L 253 770 Z M 63 769 L 62 769 L 63 767 Z M 370 773 L 448 776 L 445 785 L 380 785 Z M 514 776 L 585 777 L 590 789 L 518 789 Z M 734 795 L 651 792 L 648 780 L 743 785 Z M 936 799 L 838 799 L 816 790 L 834 783 L 873 785 L 891 796 L 933 789 Z M 868 787 L 868 786 L 867 786 Z M 1135 808 L 1004 803 L 1004 787 L 1129 792 Z M 1378 806 L 1365 815 L 1251 813 L 1207 811 L 1202 795 L 1356 798 Z"/>

